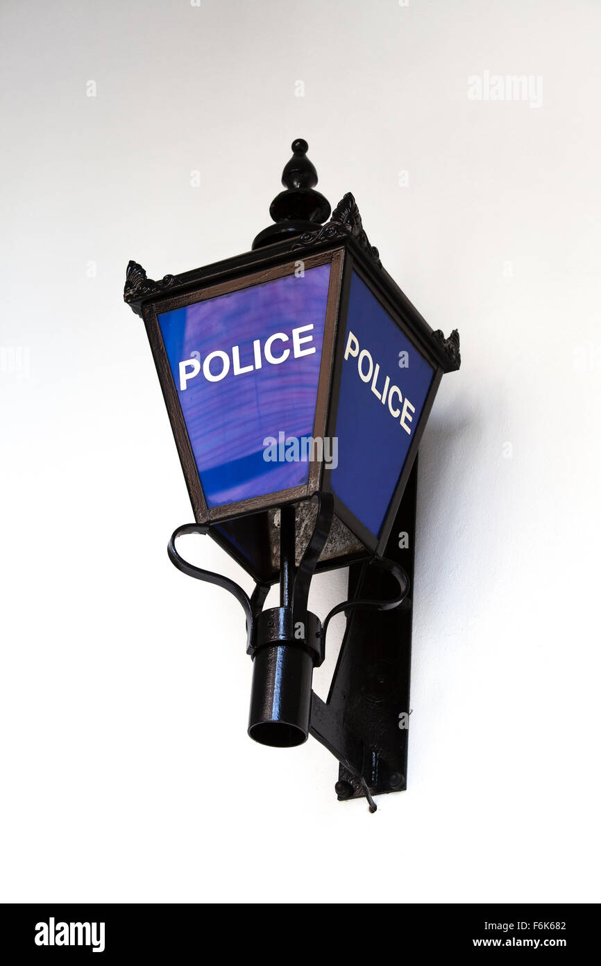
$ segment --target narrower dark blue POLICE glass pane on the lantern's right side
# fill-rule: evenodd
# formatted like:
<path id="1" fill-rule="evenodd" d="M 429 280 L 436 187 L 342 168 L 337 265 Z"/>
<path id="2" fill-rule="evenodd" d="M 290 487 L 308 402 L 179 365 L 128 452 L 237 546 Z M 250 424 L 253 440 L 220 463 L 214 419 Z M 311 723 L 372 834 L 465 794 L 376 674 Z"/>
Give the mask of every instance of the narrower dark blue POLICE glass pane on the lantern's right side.
<path id="1" fill-rule="evenodd" d="M 377 536 L 414 439 L 434 370 L 353 272 L 332 489 Z"/>

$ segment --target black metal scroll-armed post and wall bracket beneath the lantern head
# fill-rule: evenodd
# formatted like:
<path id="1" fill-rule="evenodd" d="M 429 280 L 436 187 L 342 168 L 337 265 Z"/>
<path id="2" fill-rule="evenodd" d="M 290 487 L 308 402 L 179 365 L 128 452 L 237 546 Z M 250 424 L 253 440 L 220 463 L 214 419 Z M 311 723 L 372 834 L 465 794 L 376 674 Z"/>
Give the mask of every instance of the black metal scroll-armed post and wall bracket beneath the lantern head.
<path id="1" fill-rule="evenodd" d="M 365 796 L 372 812 L 377 808 L 373 795 L 406 787 L 407 733 L 398 727 L 396 702 L 400 700 L 401 710 L 406 707 L 409 713 L 412 604 L 408 595 L 413 579 L 416 480 L 417 466 L 396 516 L 396 526 L 402 526 L 408 534 L 408 547 L 398 550 L 392 541 L 391 557 L 372 556 L 362 564 L 354 564 L 349 572 L 348 600 L 333 608 L 323 624 L 308 611 L 307 605 L 310 583 L 333 519 L 331 494 L 313 497 L 318 500 L 314 532 L 298 567 L 294 566 L 294 507 L 288 504 L 282 508 L 279 608 L 263 611 L 269 584 L 257 583 L 249 597 L 230 578 L 197 567 L 180 556 L 176 548 L 178 537 L 189 533 L 204 535 L 208 526 L 179 526 L 167 548 L 178 570 L 188 577 L 223 587 L 242 606 L 247 653 L 255 661 L 249 735 L 256 737 L 257 728 L 284 726 L 287 736 L 292 730 L 298 740 L 268 741 L 264 733 L 258 740 L 289 746 L 300 744 L 311 733 L 340 762 L 339 781 L 335 786 L 339 801 Z M 288 514 L 287 525 L 285 514 Z M 365 611 L 369 611 L 368 616 Z M 339 613 L 346 615 L 346 632 L 328 700 L 322 701 L 311 690 L 311 676 L 313 668 L 323 663 L 327 628 Z M 296 622 L 307 629 L 300 641 L 293 640 Z M 305 662 L 306 680 L 301 684 L 301 691 L 303 688 L 305 691 L 301 696 L 301 703 L 306 705 L 304 716 L 302 711 L 299 716 L 297 696 L 294 694 L 290 699 L 284 693 L 282 677 L 277 694 L 270 693 L 269 700 L 265 701 L 264 692 L 274 663 L 269 652 L 276 651 L 280 655 L 278 660 L 282 661 L 292 652 L 297 675 L 298 668 L 302 668 L 300 662 Z M 292 681 L 293 692 L 297 683 Z M 278 708 L 274 716 L 276 701 Z M 269 721 L 264 721 L 265 703 Z"/>

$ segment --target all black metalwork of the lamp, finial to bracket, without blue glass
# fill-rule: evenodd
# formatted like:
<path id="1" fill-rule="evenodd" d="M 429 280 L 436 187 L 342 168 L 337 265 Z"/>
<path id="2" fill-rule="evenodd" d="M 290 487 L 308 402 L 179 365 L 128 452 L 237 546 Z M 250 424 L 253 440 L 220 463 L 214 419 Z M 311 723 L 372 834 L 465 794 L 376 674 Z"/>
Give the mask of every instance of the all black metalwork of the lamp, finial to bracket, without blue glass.
<path id="1" fill-rule="evenodd" d="M 169 556 L 183 573 L 222 586 L 239 601 L 246 615 L 247 650 L 254 659 L 254 679 L 256 675 L 259 677 L 260 689 L 264 691 L 268 688 L 273 665 L 271 655 L 276 652 L 280 656 L 288 656 L 292 661 L 290 667 L 298 669 L 297 677 L 304 675 L 305 684 L 297 688 L 300 694 L 303 688 L 306 691 L 309 682 L 309 692 L 303 694 L 301 701 L 304 711 L 299 712 L 298 707 L 290 710 L 288 702 L 282 716 L 276 716 L 276 724 L 287 725 L 287 716 L 296 714 L 300 740 L 304 740 L 310 732 L 338 758 L 340 766 L 336 790 L 339 799 L 365 796 L 369 810 L 374 811 L 373 795 L 406 787 L 408 730 L 402 723 L 406 724 L 411 710 L 412 602 L 408 592 L 414 571 L 417 453 L 440 380 L 444 373 L 459 368 L 459 336 L 456 330 L 451 332 L 449 338 L 445 338 L 441 330 L 433 331 L 382 268 L 378 251 L 369 243 L 351 194 L 344 195 L 327 224 L 314 224 L 319 213 L 327 216 L 323 213 L 329 206 L 313 190 L 316 174 L 305 156 L 306 142 L 295 141 L 292 148 L 294 156 L 285 168 L 284 178 L 288 189 L 274 201 L 277 212 L 272 214 L 277 224 L 260 233 L 253 251 L 204 269 L 165 275 L 159 281 L 149 279 L 140 265 L 130 262 L 123 298 L 144 319 L 147 327 L 197 521 L 175 531 L 168 548 Z M 278 241 L 266 244 L 272 239 Z M 433 370 L 420 420 L 377 536 L 371 534 L 332 492 L 328 474 L 320 465 L 310 468 L 308 482 L 303 487 L 210 510 L 205 503 L 157 316 L 205 298 L 214 298 L 291 274 L 299 258 L 305 269 L 327 262 L 332 265 L 314 436 L 335 434 L 344 330 L 353 271 L 366 282 L 396 326 Z M 294 504 L 315 497 L 319 501 L 319 508 L 314 533 L 296 566 Z M 240 526 L 245 518 L 264 513 L 267 508 L 274 506 L 280 507 L 283 520 L 281 572 L 278 575 L 281 601 L 280 608 L 263 611 L 269 586 L 276 577 L 270 573 L 266 580 L 264 575 L 249 565 L 243 554 L 236 552 L 223 528 L 232 522 Z M 341 559 L 319 560 L 334 514 L 360 541 L 365 553 L 357 550 Z M 401 546 L 398 541 L 399 531 L 407 534 L 406 546 Z M 251 597 L 235 582 L 189 564 L 178 554 L 178 536 L 192 532 L 208 533 L 253 576 L 256 587 Z M 330 611 L 321 626 L 318 618 L 307 610 L 309 583 L 315 570 L 330 569 L 341 564 L 350 565 L 349 599 Z M 313 667 L 323 661 L 329 622 L 341 612 L 347 617 L 346 631 L 328 699 L 322 701 L 311 691 L 311 674 Z M 305 628 L 303 638 L 298 641 L 293 635 L 296 618 L 301 619 Z M 288 679 L 292 679 L 295 673 L 290 673 Z M 254 737 L 255 726 L 273 724 L 271 720 L 262 721 L 263 703 L 254 699 L 251 702 L 249 733 Z M 401 717 L 402 723 L 399 721 Z M 282 742 L 296 743 L 296 740 L 287 739 Z"/>

